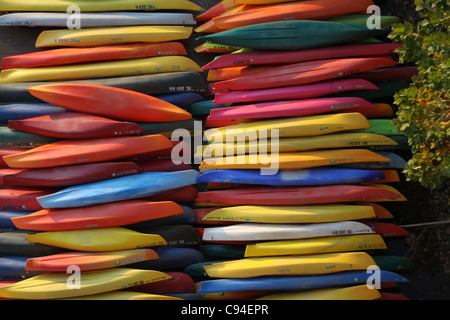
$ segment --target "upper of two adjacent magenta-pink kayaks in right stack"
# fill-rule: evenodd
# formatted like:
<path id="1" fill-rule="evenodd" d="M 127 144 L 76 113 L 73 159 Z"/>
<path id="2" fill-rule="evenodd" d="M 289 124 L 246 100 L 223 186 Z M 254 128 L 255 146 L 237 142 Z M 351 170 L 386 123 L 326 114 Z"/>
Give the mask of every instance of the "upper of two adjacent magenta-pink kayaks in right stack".
<path id="1" fill-rule="evenodd" d="M 218 92 L 214 97 L 214 104 L 308 99 L 340 92 L 376 89 L 377 86 L 364 79 L 337 79 L 280 88 Z"/>

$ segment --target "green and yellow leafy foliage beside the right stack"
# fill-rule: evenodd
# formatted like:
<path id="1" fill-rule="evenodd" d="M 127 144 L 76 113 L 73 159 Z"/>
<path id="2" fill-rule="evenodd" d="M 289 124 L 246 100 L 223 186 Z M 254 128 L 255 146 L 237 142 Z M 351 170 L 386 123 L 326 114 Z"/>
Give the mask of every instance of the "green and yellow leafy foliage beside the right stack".
<path id="1" fill-rule="evenodd" d="M 436 189 L 450 177 L 449 14 L 447 0 L 415 0 L 424 19 L 393 26 L 389 38 L 402 44 L 399 62 L 415 63 L 419 74 L 394 99 L 394 124 L 411 146 L 404 173 L 409 181 Z"/>

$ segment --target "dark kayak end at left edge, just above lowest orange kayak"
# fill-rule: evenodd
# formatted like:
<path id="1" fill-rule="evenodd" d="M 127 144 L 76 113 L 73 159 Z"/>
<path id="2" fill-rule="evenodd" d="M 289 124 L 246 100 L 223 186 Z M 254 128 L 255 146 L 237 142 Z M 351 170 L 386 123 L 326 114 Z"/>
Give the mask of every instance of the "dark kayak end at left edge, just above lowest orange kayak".
<path id="1" fill-rule="evenodd" d="M 27 240 L 31 231 L 8 231 L 0 233 L 0 255 L 5 257 L 41 257 L 66 251 L 41 243 Z"/>

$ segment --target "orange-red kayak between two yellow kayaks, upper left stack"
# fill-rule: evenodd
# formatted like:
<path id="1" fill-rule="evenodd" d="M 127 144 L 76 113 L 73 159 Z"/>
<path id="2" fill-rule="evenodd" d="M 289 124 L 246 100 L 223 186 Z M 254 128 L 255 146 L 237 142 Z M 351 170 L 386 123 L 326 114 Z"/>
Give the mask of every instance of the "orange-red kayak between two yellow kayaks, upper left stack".
<path id="1" fill-rule="evenodd" d="M 67 64 L 186 55 L 178 42 L 130 43 L 91 48 L 62 48 L 5 57 L 2 69 L 50 67 Z"/>

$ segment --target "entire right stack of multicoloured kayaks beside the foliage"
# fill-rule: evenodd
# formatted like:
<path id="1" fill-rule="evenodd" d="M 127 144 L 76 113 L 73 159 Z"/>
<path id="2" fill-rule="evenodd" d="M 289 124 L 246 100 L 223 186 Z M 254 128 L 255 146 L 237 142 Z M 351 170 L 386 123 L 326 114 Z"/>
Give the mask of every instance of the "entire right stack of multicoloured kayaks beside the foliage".
<path id="1" fill-rule="evenodd" d="M 386 101 L 417 72 L 369 28 L 372 1 L 221 1 L 196 17 L 213 53 L 202 69 L 197 232 L 206 261 L 186 268 L 205 299 L 407 299 L 389 255 L 408 232 L 390 206 L 407 149 Z M 378 268 L 381 285 L 367 284 Z"/>

